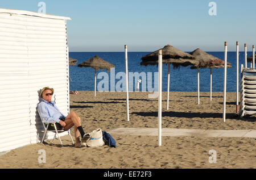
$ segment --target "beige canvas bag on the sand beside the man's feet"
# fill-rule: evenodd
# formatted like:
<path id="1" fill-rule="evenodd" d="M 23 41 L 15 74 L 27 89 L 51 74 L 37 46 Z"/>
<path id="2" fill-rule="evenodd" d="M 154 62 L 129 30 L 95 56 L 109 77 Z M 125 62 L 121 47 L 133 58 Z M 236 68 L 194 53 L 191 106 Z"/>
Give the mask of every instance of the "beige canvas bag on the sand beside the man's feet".
<path id="1" fill-rule="evenodd" d="M 93 130 L 90 133 L 90 139 L 88 139 L 84 145 L 89 146 L 89 147 L 99 147 L 104 145 L 103 141 L 103 136 L 102 136 L 102 131 L 101 128 L 98 128 L 96 130 Z"/>

